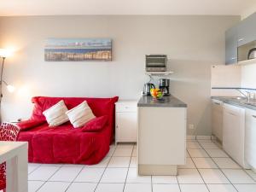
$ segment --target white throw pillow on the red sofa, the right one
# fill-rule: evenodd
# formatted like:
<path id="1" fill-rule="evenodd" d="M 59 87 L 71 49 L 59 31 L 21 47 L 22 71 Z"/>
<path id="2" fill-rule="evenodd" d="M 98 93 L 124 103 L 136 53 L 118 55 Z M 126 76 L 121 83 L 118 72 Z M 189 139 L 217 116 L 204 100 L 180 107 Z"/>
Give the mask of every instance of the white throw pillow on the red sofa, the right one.
<path id="1" fill-rule="evenodd" d="M 66 114 L 74 128 L 83 126 L 90 119 L 95 118 L 95 115 L 92 113 L 86 101 L 82 102 L 77 107 L 70 109 Z"/>

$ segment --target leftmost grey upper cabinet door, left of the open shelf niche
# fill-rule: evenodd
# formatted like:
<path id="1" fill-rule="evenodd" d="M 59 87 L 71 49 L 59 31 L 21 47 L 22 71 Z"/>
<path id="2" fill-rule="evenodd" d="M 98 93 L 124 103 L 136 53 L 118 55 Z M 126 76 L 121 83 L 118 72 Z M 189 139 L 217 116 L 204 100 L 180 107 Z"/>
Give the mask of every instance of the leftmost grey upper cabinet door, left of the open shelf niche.
<path id="1" fill-rule="evenodd" d="M 225 32 L 225 53 L 226 65 L 237 62 L 237 26 Z"/>

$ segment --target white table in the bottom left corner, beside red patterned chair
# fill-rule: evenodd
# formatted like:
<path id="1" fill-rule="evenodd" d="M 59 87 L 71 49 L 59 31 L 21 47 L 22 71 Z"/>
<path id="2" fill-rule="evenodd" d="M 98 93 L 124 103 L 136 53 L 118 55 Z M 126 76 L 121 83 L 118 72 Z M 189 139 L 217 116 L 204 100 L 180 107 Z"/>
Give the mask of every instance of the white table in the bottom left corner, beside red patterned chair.
<path id="1" fill-rule="evenodd" d="M 27 143 L 0 142 L 0 163 L 6 162 L 7 192 L 27 192 Z"/>

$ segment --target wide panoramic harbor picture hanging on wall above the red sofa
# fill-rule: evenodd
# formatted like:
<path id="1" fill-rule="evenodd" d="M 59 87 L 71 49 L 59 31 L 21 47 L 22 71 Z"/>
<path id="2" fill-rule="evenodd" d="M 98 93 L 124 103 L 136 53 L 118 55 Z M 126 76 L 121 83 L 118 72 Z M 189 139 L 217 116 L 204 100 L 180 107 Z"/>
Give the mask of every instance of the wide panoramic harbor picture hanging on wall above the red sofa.
<path id="1" fill-rule="evenodd" d="M 48 38 L 44 61 L 111 61 L 110 38 Z"/>

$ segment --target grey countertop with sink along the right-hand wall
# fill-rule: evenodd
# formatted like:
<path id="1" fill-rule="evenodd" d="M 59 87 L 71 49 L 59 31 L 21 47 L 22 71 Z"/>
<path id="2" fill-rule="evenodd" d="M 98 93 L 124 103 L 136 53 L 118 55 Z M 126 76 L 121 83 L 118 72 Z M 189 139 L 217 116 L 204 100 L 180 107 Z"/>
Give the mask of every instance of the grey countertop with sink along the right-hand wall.
<path id="1" fill-rule="evenodd" d="M 251 100 L 250 103 L 247 103 L 247 99 L 245 97 L 234 97 L 234 96 L 212 96 L 212 99 L 235 105 L 241 108 L 249 108 L 256 110 L 256 101 Z"/>

